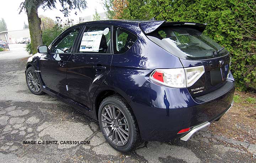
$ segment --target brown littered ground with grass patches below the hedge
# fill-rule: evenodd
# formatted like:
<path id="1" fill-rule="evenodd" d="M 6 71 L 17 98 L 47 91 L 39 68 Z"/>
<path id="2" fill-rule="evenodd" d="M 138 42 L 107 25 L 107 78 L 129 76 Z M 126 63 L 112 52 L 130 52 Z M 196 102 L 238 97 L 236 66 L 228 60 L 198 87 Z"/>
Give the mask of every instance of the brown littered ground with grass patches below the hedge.
<path id="1" fill-rule="evenodd" d="M 256 94 L 235 92 L 234 105 L 209 130 L 215 135 L 256 144 Z"/>

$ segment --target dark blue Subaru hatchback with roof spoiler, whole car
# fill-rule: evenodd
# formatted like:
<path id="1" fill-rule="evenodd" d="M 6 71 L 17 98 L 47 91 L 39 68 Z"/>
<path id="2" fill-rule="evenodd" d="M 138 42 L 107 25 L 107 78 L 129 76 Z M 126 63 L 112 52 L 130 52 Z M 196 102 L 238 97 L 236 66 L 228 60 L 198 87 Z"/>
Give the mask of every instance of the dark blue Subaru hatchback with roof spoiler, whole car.
<path id="1" fill-rule="evenodd" d="M 127 152 L 140 140 L 189 140 L 231 108 L 230 54 L 206 25 L 93 21 L 66 29 L 28 59 L 30 91 L 48 93 L 99 121 Z"/>

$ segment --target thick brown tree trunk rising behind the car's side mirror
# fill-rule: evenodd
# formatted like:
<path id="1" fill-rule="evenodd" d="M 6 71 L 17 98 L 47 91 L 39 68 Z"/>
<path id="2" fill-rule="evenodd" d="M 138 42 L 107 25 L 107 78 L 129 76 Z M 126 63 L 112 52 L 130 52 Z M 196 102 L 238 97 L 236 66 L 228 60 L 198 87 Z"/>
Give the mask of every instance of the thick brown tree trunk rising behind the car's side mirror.
<path id="1" fill-rule="evenodd" d="M 30 29 L 32 53 L 37 53 L 37 47 L 42 45 L 41 19 L 38 17 L 37 9 L 33 8 L 28 16 L 28 28 Z"/>

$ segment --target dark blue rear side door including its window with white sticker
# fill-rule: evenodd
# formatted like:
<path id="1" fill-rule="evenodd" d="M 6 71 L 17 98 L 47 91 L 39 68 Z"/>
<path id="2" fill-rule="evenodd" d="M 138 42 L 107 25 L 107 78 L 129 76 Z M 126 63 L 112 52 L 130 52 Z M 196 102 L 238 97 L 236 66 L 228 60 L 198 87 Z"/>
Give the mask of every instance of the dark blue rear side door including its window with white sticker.
<path id="1" fill-rule="evenodd" d="M 111 68 L 112 27 L 87 26 L 79 36 L 74 54 L 68 60 L 69 96 L 92 108 L 92 98 Z"/>

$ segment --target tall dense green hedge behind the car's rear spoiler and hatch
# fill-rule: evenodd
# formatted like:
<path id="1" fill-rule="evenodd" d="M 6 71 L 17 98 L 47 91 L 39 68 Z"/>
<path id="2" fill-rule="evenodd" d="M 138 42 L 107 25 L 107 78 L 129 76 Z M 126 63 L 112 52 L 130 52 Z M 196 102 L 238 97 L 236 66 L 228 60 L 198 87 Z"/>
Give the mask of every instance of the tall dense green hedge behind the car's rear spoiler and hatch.
<path id="1" fill-rule="evenodd" d="M 207 23 L 204 34 L 228 49 L 241 91 L 256 90 L 256 2 L 254 0 L 128 0 L 124 19 Z"/>

